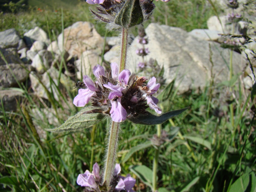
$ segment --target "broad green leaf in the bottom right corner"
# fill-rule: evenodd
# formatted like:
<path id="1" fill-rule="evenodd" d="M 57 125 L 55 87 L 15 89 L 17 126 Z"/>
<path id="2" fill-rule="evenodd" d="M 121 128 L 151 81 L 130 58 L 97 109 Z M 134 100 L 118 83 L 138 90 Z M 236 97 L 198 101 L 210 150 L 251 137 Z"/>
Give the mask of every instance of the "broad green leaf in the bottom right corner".
<path id="1" fill-rule="evenodd" d="M 243 174 L 241 177 L 239 177 L 230 187 L 229 191 L 236 191 L 236 192 L 244 192 L 246 191 L 247 187 L 252 184 L 250 182 L 251 180 L 251 175 L 249 173 L 245 173 Z M 254 190 L 250 190 L 250 191 L 254 191 Z"/>

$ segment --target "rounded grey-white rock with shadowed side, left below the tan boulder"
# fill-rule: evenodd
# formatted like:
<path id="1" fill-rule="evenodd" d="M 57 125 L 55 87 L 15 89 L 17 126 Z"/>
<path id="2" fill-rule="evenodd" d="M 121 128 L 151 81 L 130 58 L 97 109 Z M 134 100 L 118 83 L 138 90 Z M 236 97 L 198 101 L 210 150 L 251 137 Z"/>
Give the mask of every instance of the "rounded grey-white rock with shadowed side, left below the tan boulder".
<path id="1" fill-rule="evenodd" d="M 33 58 L 31 65 L 42 74 L 51 67 L 52 61 L 52 53 L 47 50 L 41 50 Z"/>

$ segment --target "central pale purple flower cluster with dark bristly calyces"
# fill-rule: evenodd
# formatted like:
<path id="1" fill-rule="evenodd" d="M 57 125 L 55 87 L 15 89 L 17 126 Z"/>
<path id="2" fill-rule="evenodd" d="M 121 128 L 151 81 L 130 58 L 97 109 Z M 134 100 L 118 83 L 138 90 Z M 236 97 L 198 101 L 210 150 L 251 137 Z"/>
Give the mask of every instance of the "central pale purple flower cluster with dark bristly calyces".
<path id="1" fill-rule="evenodd" d="M 148 106 L 158 114 L 162 113 L 157 106 L 158 99 L 153 97 L 160 87 L 155 77 L 146 84 L 146 77 L 131 75 L 128 69 L 119 74 L 116 63 L 111 63 L 110 73 L 105 73 L 100 65 L 94 66 L 93 74 L 96 81 L 87 75 L 83 77 L 84 87 L 78 90 L 78 95 L 74 98 L 75 106 L 82 107 L 91 101 L 93 106 L 101 107 L 115 122 L 146 114 Z"/>

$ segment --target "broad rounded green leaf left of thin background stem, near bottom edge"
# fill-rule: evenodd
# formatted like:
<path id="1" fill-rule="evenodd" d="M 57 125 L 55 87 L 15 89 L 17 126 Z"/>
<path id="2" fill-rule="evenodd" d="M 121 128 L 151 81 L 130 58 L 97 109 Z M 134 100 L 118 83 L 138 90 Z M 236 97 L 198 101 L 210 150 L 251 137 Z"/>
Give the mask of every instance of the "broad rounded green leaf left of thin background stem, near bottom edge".
<path id="1" fill-rule="evenodd" d="M 153 172 L 145 165 L 134 165 L 130 167 L 132 173 L 141 179 L 143 183 L 152 188 Z"/>

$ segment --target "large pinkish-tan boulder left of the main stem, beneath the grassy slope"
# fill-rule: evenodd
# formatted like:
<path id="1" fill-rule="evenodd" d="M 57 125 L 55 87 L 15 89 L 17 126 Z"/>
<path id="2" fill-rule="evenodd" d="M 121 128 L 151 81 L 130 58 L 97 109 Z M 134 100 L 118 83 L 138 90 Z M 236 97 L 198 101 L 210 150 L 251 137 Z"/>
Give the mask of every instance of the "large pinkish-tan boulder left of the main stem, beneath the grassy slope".
<path id="1" fill-rule="evenodd" d="M 60 51 L 64 48 L 72 57 L 81 58 L 86 50 L 95 50 L 100 55 L 103 45 L 104 39 L 89 22 L 76 22 L 58 36 L 58 48 Z"/>

